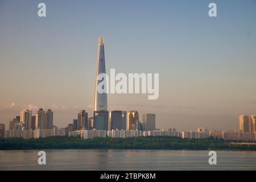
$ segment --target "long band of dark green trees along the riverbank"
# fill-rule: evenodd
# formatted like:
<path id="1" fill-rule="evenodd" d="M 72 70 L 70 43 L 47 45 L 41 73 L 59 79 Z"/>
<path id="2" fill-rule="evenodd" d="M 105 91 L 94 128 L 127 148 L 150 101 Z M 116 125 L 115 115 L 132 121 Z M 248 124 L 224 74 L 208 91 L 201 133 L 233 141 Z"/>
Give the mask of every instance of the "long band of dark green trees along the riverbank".
<path id="1" fill-rule="evenodd" d="M 153 150 L 256 150 L 256 146 L 234 146 L 222 139 L 182 139 L 179 137 L 130 137 L 81 140 L 80 137 L 38 139 L 3 138 L 0 150 L 33 149 L 153 149 Z"/>

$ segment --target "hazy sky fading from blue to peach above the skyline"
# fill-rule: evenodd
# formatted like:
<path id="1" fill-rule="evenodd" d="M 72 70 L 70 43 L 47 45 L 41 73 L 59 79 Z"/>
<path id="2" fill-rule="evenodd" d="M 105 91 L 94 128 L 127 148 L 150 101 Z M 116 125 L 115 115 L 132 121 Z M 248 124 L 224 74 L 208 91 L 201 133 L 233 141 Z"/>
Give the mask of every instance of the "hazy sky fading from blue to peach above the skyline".
<path id="1" fill-rule="evenodd" d="M 0 123 L 40 107 L 59 127 L 80 109 L 92 116 L 104 36 L 107 73 L 159 73 L 158 100 L 108 94 L 110 111 L 155 113 L 160 129 L 237 129 L 238 115 L 256 114 L 255 17 L 253 0 L 0 0 Z"/>

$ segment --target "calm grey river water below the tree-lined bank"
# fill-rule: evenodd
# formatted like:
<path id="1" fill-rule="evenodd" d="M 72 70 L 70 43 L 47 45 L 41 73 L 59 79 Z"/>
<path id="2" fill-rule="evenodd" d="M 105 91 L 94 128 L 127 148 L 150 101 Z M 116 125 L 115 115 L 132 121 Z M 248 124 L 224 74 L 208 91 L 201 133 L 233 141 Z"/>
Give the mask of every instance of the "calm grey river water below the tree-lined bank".
<path id="1" fill-rule="evenodd" d="M 256 170 L 256 151 L 217 150 L 209 165 L 208 150 L 39 150 L 0 151 L 0 170 Z"/>

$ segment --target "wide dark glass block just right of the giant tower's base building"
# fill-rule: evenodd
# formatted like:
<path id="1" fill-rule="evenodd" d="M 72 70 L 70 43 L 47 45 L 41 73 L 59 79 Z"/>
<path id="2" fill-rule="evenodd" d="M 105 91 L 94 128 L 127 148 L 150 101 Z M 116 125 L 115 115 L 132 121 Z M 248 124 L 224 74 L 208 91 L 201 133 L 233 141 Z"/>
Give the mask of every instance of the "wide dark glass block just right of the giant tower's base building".
<path id="1" fill-rule="evenodd" d="M 110 112 L 109 130 L 126 130 L 126 111 L 114 110 Z"/>

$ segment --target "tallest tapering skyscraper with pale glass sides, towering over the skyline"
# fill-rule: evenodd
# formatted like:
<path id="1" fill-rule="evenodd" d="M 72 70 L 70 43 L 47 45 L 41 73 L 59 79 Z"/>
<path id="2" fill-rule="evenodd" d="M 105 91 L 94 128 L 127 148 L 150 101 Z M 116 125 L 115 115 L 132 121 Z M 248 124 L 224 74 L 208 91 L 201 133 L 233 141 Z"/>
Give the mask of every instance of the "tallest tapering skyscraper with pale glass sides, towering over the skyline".
<path id="1" fill-rule="evenodd" d="M 98 75 L 100 75 L 101 73 L 106 73 L 106 67 L 104 54 L 104 39 L 100 36 L 100 38 L 98 39 L 97 67 L 94 85 L 94 111 L 108 110 L 107 93 L 98 93 L 97 90 L 98 84 L 104 80 L 104 78 L 102 78 L 101 80 L 97 80 Z"/>

